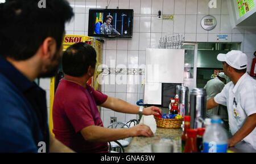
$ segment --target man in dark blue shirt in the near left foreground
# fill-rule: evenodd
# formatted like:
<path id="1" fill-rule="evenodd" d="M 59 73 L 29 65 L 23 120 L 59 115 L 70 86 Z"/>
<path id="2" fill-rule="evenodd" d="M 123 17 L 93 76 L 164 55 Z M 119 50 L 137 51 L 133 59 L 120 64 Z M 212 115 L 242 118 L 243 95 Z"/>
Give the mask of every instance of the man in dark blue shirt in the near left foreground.
<path id="1" fill-rule="evenodd" d="M 0 3 L 0 152 L 73 152 L 49 133 L 46 92 L 33 82 L 55 75 L 72 16 L 65 0 Z"/>

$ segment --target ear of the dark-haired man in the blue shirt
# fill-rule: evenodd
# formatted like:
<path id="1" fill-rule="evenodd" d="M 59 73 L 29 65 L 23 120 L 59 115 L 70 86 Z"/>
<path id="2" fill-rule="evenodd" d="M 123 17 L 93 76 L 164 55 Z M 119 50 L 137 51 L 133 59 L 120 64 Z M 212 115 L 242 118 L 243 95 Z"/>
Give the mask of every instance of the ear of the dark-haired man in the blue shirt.
<path id="1" fill-rule="evenodd" d="M 56 41 L 52 37 L 47 37 L 42 44 L 42 57 L 51 58 L 56 52 Z"/>

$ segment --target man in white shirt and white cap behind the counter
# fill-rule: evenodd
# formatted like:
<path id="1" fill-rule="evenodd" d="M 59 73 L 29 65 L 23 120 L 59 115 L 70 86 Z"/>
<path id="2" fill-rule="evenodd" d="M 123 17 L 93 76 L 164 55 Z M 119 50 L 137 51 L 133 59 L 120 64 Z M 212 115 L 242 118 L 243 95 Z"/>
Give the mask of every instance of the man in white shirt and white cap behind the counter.
<path id="1" fill-rule="evenodd" d="M 228 107 L 232 137 L 229 146 L 243 140 L 256 149 L 256 80 L 246 73 L 247 57 L 242 51 L 218 54 L 223 70 L 231 80 L 214 98 L 207 101 L 207 109 L 222 104 Z"/>

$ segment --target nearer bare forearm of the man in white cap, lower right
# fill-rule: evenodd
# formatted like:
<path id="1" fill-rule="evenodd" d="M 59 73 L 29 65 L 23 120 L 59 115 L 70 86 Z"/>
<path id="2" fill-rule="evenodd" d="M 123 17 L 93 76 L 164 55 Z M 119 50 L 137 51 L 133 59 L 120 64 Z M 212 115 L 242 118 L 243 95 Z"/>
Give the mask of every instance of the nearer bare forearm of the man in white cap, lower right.
<path id="1" fill-rule="evenodd" d="M 245 123 L 243 123 L 243 126 L 238 130 L 230 139 L 230 145 L 234 146 L 239 141 L 241 141 L 243 138 L 245 138 L 247 135 L 249 135 L 256 126 L 256 114 L 252 114 L 247 117 L 245 120 Z"/>

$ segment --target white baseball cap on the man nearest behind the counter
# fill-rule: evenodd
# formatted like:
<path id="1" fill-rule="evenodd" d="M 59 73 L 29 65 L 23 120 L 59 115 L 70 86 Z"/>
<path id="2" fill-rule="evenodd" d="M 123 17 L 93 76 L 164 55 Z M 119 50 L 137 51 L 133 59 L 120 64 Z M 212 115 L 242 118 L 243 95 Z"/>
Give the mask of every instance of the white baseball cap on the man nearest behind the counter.
<path id="1" fill-rule="evenodd" d="M 217 59 L 226 62 L 237 70 L 243 70 L 247 67 L 247 56 L 242 51 L 231 50 L 226 54 L 218 54 Z"/>

